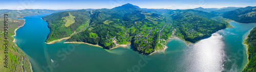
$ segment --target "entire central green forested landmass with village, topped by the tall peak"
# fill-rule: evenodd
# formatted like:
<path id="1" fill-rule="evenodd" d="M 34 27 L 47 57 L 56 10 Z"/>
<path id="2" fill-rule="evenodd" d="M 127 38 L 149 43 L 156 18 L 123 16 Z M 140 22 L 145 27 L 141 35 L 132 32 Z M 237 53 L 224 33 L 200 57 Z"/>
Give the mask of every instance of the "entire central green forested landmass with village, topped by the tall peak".
<path id="1" fill-rule="evenodd" d="M 228 25 L 224 18 L 207 12 L 141 9 L 132 4 L 42 18 L 51 29 L 47 43 L 66 37 L 71 37 L 67 42 L 98 44 L 105 49 L 131 43 L 135 51 L 145 55 L 163 49 L 172 35 L 195 43 Z"/>

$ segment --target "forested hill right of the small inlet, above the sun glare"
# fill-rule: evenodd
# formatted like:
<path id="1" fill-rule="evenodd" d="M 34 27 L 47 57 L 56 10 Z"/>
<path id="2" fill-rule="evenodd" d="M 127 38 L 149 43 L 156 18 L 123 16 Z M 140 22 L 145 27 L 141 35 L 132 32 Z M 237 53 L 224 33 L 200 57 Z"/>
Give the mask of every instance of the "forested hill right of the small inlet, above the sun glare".
<path id="1" fill-rule="evenodd" d="M 212 33 L 226 28 L 228 22 L 216 14 L 197 10 L 175 10 L 169 13 L 173 20 L 176 35 L 186 41 L 195 43 L 209 38 Z M 218 21 L 222 19 L 223 21 Z"/>

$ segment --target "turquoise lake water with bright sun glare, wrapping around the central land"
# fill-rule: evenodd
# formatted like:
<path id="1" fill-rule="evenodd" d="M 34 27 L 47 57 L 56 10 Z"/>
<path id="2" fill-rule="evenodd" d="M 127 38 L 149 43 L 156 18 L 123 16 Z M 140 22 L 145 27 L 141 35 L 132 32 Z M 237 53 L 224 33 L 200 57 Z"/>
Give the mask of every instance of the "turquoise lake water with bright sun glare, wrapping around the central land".
<path id="1" fill-rule="evenodd" d="M 188 45 L 172 39 L 163 53 L 141 55 L 130 46 L 105 50 L 87 44 L 44 41 L 50 32 L 42 15 L 26 16 L 16 31 L 16 44 L 28 56 L 33 71 L 241 71 L 247 63 L 243 39 L 256 23 L 230 22 L 208 39 Z"/>

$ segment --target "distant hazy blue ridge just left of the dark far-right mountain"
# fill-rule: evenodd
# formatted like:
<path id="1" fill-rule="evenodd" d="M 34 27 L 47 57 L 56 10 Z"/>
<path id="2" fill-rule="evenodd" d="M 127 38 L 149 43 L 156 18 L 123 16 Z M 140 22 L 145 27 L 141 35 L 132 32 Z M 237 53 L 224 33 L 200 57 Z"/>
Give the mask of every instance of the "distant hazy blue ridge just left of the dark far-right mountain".
<path id="1" fill-rule="evenodd" d="M 225 12 L 236 10 L 236 9 L 239 9 L 239 8 L 241 8 L 241 7 L 226 7 L 226 8 L 221 8 L 220 10 L 211 11 L 210 13 L 221 15 L 221 14 L 223 14 Z"/>

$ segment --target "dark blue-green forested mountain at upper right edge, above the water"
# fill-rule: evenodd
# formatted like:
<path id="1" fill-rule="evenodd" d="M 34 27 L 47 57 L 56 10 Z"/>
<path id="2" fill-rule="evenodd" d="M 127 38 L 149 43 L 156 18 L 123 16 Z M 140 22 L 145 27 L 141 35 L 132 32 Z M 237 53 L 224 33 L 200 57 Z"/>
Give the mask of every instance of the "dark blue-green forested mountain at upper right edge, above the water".
<path id="1" fill-rule="evenodd" d="M 240 8 L 233 11 L 228 11 L 223 14 L 224 18 L 232 19 L 241 23 L 256 22 L 256 7 Z"/>

